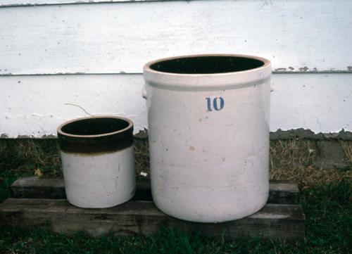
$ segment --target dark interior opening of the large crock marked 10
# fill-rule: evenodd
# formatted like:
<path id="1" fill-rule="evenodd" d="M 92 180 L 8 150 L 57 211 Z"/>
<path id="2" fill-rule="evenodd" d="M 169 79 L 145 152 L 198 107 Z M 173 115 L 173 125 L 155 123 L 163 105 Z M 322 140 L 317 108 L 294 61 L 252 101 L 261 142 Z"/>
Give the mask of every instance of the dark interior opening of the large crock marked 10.
<path id="1" fill-rule="evenodd" d="M 238 56 L 195 56 L 161 61 L 150 68 L 178 74 L 215 74 L 251 70 L 263 65 L 263 61 Z"/>

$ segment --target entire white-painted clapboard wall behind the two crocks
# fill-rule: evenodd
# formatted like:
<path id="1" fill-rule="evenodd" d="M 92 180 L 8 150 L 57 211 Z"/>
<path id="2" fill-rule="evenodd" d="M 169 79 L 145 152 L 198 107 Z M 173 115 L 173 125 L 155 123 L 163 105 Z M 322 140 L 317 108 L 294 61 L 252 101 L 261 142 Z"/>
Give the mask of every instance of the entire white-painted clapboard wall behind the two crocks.
<path id="1" fill-rule="evenodd" d="M 272 132 L 352 131 L 351 13 L 348 0 L 2 0 L 0 137 L 56 135 L 87 113 L 125 115 L 137 133 L 142 66 L 189 53 L 292 72 L 272 76 Z"/>

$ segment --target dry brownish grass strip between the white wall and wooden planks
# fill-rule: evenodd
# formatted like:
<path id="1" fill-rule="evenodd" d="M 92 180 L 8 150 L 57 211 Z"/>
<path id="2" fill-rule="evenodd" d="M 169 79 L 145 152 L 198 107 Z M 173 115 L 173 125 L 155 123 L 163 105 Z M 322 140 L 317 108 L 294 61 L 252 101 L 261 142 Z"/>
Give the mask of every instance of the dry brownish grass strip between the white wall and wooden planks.
<path id="1" fill-rule="evenodd" d="M 352 165 L 352 141 L 340 141 L 346 159 Z M 149 173 L 147 139 L 135 139 L 137 175 Z M 351 179 L 350 169 L 314 167 L 317 159 L 313 140 L 278 140 L 270 142 L 270 179 L 296 180 L 301 187 L 317 186 L 341 179 Z M 43 177 L 62 177 L 61 160 L 55 139 L 0 139 L 0 175 L 16 176 L 42 172 Z M 36 171 L 37 170 L 37 171 Z"/>

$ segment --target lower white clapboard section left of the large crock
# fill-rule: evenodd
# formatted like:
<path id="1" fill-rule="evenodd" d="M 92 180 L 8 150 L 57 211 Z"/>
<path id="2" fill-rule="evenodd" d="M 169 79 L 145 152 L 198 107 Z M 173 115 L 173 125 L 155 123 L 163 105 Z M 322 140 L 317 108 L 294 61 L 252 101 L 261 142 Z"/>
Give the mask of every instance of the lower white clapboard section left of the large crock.
<path id="1" fill-rule="evenodd" d="M 132 118 L 135 132 L 146 125 L 141 75 L 3 76 L 0 85 L 3 137 L 56 135 L 62 122 L 87 113 Z"/>

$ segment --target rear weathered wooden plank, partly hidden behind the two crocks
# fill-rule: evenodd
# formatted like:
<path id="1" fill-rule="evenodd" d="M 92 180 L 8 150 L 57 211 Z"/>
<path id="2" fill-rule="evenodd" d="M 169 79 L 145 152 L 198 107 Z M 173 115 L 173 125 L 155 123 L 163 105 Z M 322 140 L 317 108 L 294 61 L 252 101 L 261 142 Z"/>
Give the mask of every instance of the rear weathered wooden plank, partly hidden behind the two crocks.
<path id="1" fill-rule="evenodd" d="M 39 179 L 25 177 L 10 186 L 11 198 L 66 198 L 63 179 Z M 298 203 L 298 186 L 295 182 L 270 181 L 268 203 Z M 137 179 L 134 200 L 151 201 L 151 186 L 148 179 Z"/>

